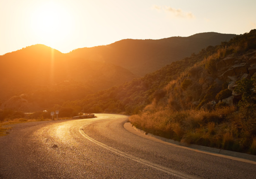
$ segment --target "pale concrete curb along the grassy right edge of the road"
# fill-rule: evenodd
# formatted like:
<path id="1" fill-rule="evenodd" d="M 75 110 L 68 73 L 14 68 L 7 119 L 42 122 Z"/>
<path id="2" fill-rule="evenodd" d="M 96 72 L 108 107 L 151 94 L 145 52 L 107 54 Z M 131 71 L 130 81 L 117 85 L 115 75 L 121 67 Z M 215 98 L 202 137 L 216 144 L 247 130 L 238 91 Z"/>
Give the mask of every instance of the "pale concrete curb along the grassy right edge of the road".
<path id="1" fill-rule="evenodd" d="M 250 155 L 250 154 L 246 154 L 246 153 L 234 152 L 234 151 L 223 150 L 223 149 L 216 149 L 216 148 L 211 148 L 211 147 L 206 147 L 206 146 L 199 146 L 199 145 L 196 145 L 196 144 L 181 144 L 179 141 L 175 141 L 175 140 L 172 140 L 172 139 L 167 139 L 167 138 L 164 138 L 164 137 L 155 136 L 151 133 L 147 133 L 147 132 L 145 132 L 141 129 L 136 128 L 133 125 L 132 125 L 132 127 L 136 131 L 141 132 L 144 135 L 154 137 L 154 138 L 162 140 L 164 142 L 176 144 L 178 146 L 184 146 L 184 147 L 188 147 L 188 148 L 192 148 L 192 149 L 197 149 L 197 150 L 202 150 L 202 151 L 207 151 L 207 152 L 213 152 L 213 153 L 218 153 L 218 154 L 222 154 L 222 155 L 228 155 L 228 156 L 247 159 L 247 160 L 251 160 L 251 161 L 256 162 L 256 155 Z"/>

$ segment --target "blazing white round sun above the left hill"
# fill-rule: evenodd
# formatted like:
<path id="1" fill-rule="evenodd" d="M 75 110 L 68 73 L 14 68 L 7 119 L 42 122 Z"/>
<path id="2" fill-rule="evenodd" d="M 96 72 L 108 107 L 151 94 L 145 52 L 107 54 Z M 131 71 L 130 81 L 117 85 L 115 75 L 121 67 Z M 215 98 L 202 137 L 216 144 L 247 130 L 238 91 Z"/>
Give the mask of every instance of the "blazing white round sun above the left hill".
<path id="1" fill-rule="evenodd" d="M 51 1 L 34 9 L 31 25 L 40 43 L 55 45 L 71 33 L 72 18 L 68 9 Z"/>

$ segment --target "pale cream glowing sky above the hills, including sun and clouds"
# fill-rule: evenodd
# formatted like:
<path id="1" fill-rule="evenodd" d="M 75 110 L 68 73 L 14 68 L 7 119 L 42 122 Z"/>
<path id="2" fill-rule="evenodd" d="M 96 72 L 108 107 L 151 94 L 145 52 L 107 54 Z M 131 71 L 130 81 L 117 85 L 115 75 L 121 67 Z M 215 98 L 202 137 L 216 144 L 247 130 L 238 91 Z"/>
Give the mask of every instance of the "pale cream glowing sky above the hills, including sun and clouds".
<path id="1" fill-rule="evenodd" d="M 255 0 L 0 0 L 0 55 L 256 29 Z"/>

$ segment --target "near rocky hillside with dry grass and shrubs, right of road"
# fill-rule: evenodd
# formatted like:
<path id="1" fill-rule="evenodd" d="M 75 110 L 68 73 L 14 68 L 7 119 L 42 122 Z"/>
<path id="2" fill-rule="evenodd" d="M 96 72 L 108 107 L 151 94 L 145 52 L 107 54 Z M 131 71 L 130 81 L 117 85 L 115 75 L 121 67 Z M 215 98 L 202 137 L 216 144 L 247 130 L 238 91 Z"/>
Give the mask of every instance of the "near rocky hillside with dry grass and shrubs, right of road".
<path id="1" fill-rule="evenodd" d="M 182 143 L 255 154 L 256 30 L 214 51 L 187 66 L 164 87 L 165 96 L 130 121 Z"/>

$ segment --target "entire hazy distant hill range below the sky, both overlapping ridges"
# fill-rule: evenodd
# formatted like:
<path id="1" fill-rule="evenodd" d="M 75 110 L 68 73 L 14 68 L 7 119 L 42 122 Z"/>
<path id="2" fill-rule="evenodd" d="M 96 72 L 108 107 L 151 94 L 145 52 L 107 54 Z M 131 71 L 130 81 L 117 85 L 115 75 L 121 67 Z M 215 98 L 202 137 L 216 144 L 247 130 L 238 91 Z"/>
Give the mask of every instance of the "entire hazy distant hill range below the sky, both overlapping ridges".
<path id="1" fill-rule="evenodd" d="M 33 111 L 33 107 L 50 108 L 81 99 L 234 36 L 207 32 L 160 40 L 126 39 L 66 54 L 42 44 L 29 46 L 0 56 L 0 105 Z M 13 96 L 20 97 L 5 103 Z"/>

